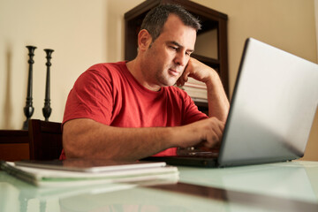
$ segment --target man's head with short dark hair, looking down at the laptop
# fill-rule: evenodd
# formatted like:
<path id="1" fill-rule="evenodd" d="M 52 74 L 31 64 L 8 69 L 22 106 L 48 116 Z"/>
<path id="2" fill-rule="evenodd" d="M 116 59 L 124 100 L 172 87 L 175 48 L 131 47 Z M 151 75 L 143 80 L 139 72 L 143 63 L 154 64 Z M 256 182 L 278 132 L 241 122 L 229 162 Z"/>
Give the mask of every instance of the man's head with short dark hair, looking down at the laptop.
<path id="1" fill-rule="evenodd" d="M 163 4 L 148 12 L 138 34 L 136 79 L 151 90 L 172 86 L 194 50 L 198 19 L 178 5 Z"/>

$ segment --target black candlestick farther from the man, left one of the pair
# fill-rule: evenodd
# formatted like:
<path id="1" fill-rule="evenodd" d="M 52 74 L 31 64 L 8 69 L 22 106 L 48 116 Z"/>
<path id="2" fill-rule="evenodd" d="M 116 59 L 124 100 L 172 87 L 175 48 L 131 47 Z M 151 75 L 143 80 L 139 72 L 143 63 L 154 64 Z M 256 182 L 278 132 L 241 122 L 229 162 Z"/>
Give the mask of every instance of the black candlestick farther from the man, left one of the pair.
<path id="1" fill-rule="evenodd" d="M 34 64 L 34 50 L 36 47 L 34 46 L 27 46 L 28 49 L 28 56 L 29 60 L 27 63 L 29 64 L 29 72 L 28 72 L 28 79 L 27 79 L 27 102 L 26 107 L 24 107 L 24 114 L 27 117 L 27 120 L 23 123 L 23 130 L 28 129 L 28 120 L 32 117 L 34 113 L 34 107 L 32 106 L 32 80 L 33 80 L 33 64 Z"/>

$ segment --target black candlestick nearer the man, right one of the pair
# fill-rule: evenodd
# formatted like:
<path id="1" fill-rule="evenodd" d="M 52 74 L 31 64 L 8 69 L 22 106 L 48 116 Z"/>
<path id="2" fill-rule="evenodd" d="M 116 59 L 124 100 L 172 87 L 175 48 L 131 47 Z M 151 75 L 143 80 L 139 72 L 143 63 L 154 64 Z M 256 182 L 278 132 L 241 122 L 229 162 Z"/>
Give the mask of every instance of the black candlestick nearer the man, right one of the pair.
<path id="1" fill-rule="evenodd" d="M 45 87 L 45 99 L 44 99 L 44 107 L 42 109 L 43 116 L 45 117 L 45 121 L 49 121 L 49 116 L 52 112 L 52 109 L 50 108 L 50 99 L 49 99 L 49 66 L 51 65 L 50 59 L 52 58 L 52 52 L 53 49 L 44 49 L 44 51 L 47 54 L 47 79 L 46 79 L 46 87 Z"/>

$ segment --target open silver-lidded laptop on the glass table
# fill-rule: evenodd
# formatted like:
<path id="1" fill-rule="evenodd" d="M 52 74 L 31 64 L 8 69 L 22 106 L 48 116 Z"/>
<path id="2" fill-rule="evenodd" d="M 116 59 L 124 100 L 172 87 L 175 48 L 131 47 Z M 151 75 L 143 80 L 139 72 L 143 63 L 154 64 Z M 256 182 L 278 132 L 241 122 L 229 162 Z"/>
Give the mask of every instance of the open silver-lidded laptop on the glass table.
<path id="1" fill-rule="evenodd" d="M 171 165 L 227 167 L 302 157 L 318 104 L 318 64 L 246 40 L 217 155 L 148 157 Z"/>

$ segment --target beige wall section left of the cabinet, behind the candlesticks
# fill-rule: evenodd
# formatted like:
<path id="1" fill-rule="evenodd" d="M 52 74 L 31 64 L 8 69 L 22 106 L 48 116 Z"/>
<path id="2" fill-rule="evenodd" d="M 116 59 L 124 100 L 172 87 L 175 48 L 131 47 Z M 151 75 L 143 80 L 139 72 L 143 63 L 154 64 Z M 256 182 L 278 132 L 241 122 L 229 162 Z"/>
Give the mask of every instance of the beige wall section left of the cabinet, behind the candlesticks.
<path id="1" fill-rule="evenodd" d="M 0 129 L 19 129 L 25 120 L 27 48 L 34 56 L 34 116 L 42 119 L 46 78 L 43 49 L 54 49 L 51 121 L 62 121 L 75 79 L 90 65 L 123 59 L 125 11 L 140 4 L 107 0 L 0 0 Z"/>

